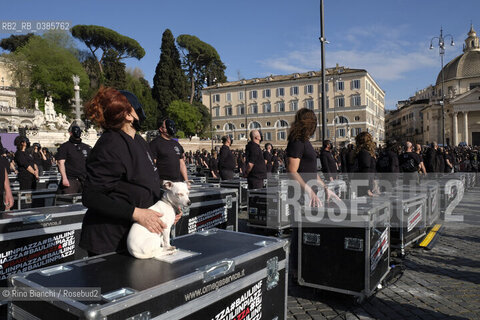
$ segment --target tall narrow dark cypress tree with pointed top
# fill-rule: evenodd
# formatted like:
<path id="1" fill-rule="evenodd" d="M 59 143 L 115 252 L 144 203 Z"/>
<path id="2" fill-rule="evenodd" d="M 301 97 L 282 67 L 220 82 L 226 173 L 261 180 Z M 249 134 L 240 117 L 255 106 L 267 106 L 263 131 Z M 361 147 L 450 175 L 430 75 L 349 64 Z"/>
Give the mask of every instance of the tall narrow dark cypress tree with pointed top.
<path id="1" fill-rule="evenodd" d="M 158 103 L 159 118 L 166 115 L 172 101 L 186 100 L 188 97 L 187 78 L 182 70 L 175 38 L 169 29 L 163 32 L 161 51 L 152 88 L 152 96 Z"/>

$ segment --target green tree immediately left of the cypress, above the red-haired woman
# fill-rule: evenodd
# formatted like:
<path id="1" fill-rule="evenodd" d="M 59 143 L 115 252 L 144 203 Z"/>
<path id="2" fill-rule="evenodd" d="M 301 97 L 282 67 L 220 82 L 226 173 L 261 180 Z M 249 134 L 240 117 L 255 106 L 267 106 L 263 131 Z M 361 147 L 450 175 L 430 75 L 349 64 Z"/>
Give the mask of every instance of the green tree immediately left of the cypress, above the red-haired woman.
<path id="1" fill-rule="evenodd" d="M 126 74 L 126 90 L 132 92 L 138 97 L 143 106 L 147 119 L 142 124 L 143 130 L 156 130 L 157 128 L 157 103 L 152 98 L 152 89 L 148 81 L 143 78 L 136 70 L 128 71 Z"/>

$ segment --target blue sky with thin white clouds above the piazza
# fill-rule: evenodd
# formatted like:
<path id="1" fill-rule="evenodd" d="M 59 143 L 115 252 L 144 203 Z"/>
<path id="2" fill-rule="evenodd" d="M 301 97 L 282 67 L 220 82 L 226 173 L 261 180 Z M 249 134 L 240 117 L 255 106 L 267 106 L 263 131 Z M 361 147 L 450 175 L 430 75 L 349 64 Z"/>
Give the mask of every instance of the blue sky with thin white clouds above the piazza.
<path id="1" fill-rule="evenodd" d="M 441 27 L 456 44 L 447 47 L 446 62 L 462 53 L 471 24 L 480 32 L 479 0 L 324 3 L 327 67 L 366 69 L 386 91 L 389 109 L 435 82 L 440 57 L 429 46 Z M 11 20 L 95 24 L 132 37 L 146 55 L 125 62 L 142 69 L 150 83 L 166 28 L 175 37 L 192 34 L 215 47 L 231 81 L 321 68 L 319 0 L 16 0 L 2 4 L 0 21 Z M 10 35 L 3 32 L 2 38 Z"/>

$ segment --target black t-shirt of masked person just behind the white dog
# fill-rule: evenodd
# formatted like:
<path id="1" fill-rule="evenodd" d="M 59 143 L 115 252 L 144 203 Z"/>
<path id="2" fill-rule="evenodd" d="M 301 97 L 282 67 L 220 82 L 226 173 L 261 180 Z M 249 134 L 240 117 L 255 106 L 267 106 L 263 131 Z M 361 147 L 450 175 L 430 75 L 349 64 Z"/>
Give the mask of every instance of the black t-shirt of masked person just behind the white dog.
<path id="1" fill-rule="evenodd" d="M 150 149 L 153 159 L 156 159 L 160 179 L 183 181 L 180 174 L 180 159 L 183 159 L 184 151 L 178 141 L 159 136 L 150 142 Z"/>

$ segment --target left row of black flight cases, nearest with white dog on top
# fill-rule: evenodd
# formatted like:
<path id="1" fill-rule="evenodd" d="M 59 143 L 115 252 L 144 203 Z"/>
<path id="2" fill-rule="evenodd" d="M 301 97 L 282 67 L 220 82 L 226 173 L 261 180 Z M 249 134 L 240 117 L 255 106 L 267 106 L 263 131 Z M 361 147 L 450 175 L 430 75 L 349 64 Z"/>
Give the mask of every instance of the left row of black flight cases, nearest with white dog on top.
<path id="1" fill-rule="evenodd" d="M 178 251 L 162 260 L 115 253 L 87 258 L 78 247 L 86 211 L 80 204 L 4 214 L 3 287 L 15 288 L 17 298 L 31 290 L 35 296 L 51 297 L 51 288 L 93 287 L 100 292 L 94 301 L 68 294 L 58 299 L 12 299 L 8 316 L 286 319 L 287 243 L 235 232 L 238 199 L 237 189 L 193 186 L 192 205 L 172 230 L 172 245 Z M 78 195 L 62 200 L 78 201 Z"/>

